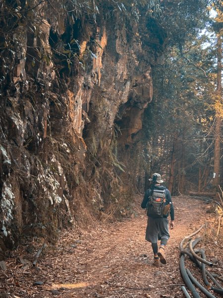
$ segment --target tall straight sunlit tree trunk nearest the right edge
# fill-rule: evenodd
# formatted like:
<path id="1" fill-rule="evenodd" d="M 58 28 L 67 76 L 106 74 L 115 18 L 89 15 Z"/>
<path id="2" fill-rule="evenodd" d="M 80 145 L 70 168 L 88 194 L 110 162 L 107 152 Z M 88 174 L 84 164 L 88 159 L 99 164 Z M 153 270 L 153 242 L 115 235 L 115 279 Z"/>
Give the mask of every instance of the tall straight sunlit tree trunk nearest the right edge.
<path id="1" fill-rule="evenodd" d="M 214 150 L 214 186 L 218 191 L 220 182 L 220 158 L 221 158 L 221 124 L 222 115 L 220 106 L 222 104 L 222 39 L 221 35 L 218 34 L 217 43 L 217 98 L 216 98 L 216 118 L 215 118 L 215 150 Z"/>

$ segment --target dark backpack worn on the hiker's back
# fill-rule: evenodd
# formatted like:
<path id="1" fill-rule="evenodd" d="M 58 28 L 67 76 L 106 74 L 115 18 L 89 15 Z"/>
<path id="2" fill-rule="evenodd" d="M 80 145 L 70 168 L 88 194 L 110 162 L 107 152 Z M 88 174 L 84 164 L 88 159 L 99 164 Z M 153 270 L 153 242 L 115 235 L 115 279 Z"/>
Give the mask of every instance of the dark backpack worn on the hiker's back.
<path id="1" fill-rule="evenodd" d="M 162 218 L 164 206 L 166 205 L 166 191 L 165 189 L 154 189 L 149 196 L 147 205 L 147 216 L 153 218 Z"/>

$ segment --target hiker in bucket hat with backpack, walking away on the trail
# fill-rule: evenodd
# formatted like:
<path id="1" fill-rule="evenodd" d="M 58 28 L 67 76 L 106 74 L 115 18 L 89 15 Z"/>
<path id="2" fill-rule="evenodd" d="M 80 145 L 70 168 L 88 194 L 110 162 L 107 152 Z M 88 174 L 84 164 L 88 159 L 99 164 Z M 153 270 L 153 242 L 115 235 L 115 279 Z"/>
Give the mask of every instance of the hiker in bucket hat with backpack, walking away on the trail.
<path id="1" fill-rule="evenodd" d="M 165 246 L 169 238 L 167 217 L 170 213 L 170 228 L 174 228 L 174 208 L 170 192 L 161 185 L 164 182 L 161 175 L 154 173 L 149 180 L 153 182 L 151 187 L 145 192 L 141 207 L 143 209 L 147 208 L 146 240 L 152 243 L 154 253 L 153 265 L 160 267 L 160 262 L 167 264 L 165 258 Z M 159 250 L 158 240 L 161 240 Z"/>

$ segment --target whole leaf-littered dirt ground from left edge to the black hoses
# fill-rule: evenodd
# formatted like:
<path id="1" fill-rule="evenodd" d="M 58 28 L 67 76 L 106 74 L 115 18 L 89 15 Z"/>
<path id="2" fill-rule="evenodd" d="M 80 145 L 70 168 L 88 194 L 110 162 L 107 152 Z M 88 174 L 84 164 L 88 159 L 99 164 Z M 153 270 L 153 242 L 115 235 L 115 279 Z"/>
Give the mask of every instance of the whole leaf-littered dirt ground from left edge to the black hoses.
<path id="1" fill-rule="evenodd" d="M 137 197 L 138 206 L 141 199 Z M 67 231 L 54 250 L 46 249 L 38 267 L 22 269 L 24 265 L 17 265 L 15 258 L 9 259 L 8 269 L 0 278 L 1 292 L 7 290 L 9 297 L 35 298 L 184 297 L 180 290 L 179 243 L 207 220 L 213 221 L 213 215 L 206 213 L 207 205 L 199 200 L 175 197 L 173 203 L 175 228 L 170 230 L 167 265 L 159 269 L 152 266 L 152 248 L 145 241 L 147 217 L 137 207 L 138 216 L 132 219 L 106 227 L 89 226 L 88 233 L 79 237 L 77 232 Z M 216 257 L 220 259 L 218 270 L 222 270 L 221 251 Z M 33 286 L 36 281 L 44 284 Z"/>

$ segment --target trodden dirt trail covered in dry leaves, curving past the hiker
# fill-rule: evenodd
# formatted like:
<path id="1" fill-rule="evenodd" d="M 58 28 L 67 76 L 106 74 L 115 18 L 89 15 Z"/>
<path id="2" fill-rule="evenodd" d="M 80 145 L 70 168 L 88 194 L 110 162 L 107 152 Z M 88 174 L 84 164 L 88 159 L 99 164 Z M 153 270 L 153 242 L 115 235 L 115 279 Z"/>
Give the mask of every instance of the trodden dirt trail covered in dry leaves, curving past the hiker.
<path id="1" fill-rule="evenodd" d="M 141 197 L 138 200 L 141 202 Z M 80 288 L 77 289 L 60 290 L 58 297 L 137 298 L 145 297 L 145 294 L 152 298 L 160 295 L 183 297 L 178 286 L 152 291 L 121 287 L 148 288 L 158 287 L 162 283 L 182 283 L 179 273 L 179 243 L 184 236 L 206 221 L 206 205 L 198 200 L 183 198 L 173 198 L 173 203 L 175 228 L 170 230 L 166 266 L 157 269 L 151 265 L 152 248 L 145 241 L 147 217 L 140 211 L 138 217 L 113 224 L 109 230 L 92 231 L 77 244 L 74 253 L 63 255 L 60 260 L 56 258 L 52 267 L 54 284 L 87 284 L 79 284 Z M 48 276 L 48 282 L 49 279 L 51 276 Z M 38 296 L 37 292 L 35 297 L 52 297 L 52 293 L 44 291 L 43 296 Z"/>

